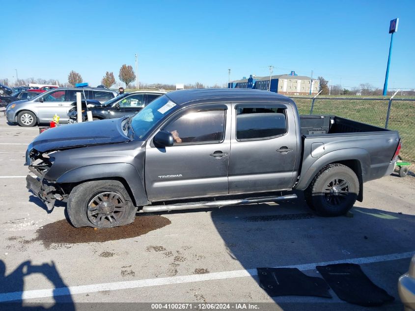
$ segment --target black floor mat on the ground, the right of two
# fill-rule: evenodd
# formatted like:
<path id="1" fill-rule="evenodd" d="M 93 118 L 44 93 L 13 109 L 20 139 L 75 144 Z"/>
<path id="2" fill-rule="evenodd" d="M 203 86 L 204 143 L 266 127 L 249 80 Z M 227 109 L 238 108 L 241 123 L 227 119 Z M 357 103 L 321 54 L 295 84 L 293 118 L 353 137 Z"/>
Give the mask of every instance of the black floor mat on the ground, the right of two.
<path id="1" fill-rule="evenodd" d="M 358 264 L 339 263 L 316 268 L 341 300 L 370 307 L 395 299 L 370 281 Z"/>

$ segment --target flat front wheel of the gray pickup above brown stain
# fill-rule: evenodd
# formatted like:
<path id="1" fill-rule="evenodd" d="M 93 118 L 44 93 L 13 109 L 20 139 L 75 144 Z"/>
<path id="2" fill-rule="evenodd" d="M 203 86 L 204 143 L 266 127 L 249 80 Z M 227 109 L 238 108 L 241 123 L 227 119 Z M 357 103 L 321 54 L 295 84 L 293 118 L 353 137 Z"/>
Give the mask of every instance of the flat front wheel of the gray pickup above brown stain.
<path id="1" fill-rule="evenodd" d="M 137 207 L 117 180 L 87 181 L 69 194 L 67 211 L 73 226 L 111 228 L 134 222 Z"/>

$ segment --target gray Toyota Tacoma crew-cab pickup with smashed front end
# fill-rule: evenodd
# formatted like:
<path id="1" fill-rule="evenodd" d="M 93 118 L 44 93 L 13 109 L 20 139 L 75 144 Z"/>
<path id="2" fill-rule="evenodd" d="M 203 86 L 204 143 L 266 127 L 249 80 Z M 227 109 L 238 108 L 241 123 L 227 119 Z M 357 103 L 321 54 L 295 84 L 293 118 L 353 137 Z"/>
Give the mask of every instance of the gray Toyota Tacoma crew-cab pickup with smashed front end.
<path id="1" fill-rule="evenodd" d="M 299 116 L 260 90 L 167 93 L 131 118 L 49 129 L 28 146 L 27 187 L 73 226 L 113 227 L 143 212 L 297 198 L 345 214 L 363 183 L 390 174 L 399 134 L 333 115 Z"/>

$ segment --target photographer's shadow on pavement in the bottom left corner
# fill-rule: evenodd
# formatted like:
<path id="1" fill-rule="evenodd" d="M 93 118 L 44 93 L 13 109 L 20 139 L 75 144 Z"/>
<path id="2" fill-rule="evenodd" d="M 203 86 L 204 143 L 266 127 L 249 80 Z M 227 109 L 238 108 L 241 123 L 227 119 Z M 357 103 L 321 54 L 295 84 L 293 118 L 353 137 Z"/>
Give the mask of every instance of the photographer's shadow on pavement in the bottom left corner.
<path id="1" fill-rule="evenodd" d="M 54 285 L 54 304 L 48 303 L 44 306 L 30 303 L 30 300 L 23 302 L 24 278 L 35 273 L 42 274 Z M 6 275 L 6 265 L 0 260 L 0 288 L 0 310 L 75 310 L 69 289 L 53 261 L 41 265 L 33 265 L 30 261 L 25 261 Z"/>

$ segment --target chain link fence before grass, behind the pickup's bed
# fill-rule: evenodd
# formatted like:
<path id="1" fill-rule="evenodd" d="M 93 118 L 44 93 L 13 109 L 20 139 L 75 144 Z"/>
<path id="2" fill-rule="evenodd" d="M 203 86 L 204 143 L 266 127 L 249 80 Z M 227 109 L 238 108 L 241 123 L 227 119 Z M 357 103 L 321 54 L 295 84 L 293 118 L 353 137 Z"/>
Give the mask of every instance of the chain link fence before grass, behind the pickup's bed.
<path id="1" fill-rule="evenodd" d="M 411 162 L 409 169 L 415 171 L 415 99 L 316 97 L 313 101 L 313 97 L 291 98 L 300 114 L 333 114 L 398 130 L 402 140 L 400 155 Z"/>

